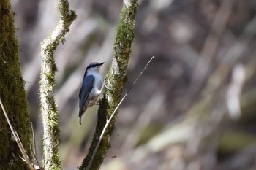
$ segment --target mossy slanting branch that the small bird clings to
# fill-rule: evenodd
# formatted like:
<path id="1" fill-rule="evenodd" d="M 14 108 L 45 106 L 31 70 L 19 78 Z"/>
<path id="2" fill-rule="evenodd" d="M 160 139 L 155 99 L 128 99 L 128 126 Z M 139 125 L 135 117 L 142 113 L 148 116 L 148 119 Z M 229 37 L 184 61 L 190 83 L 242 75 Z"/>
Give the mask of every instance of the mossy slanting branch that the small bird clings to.
<path id="1" fill-rule="evenodd" d="M 121 100 L 124 83 L 127 81 L 127 65 L 131 53 L 132 41 L 135 37 L 135 16 L 137 7 L 138 4 L 136 0 L 124 0 L 121 20 L 116 34 L 115 54 L 105 80 L 105 84 L 110 90 L 105 91 L 104 97 L 99 105 L 98 122 L 95 134 L 89 148 L 89 153 L 83 160 L 79 169 L 99 169 L 105 158 L 106 152 L 110 147 L 110 135 L 113 131 L 116 115 L 113 116 L 108 128 L 106 128 L 98 150 L 94 155 L 94 150 L 97 147 L 99 136 L 107 122 L 107 117 L 110 117 L 111 113 L 113 113 L 114 109 L 118 106 L 118 103 Z M 87 167 L 89 162 L 91 162 L 91 166 Z"/>

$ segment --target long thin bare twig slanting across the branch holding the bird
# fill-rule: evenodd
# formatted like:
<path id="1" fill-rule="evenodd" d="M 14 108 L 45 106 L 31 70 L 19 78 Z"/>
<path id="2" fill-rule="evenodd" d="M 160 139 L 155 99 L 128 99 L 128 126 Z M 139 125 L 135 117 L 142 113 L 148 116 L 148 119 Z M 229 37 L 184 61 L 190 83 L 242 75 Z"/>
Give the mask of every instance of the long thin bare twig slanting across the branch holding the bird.
<path id="1" fill-rule="evenodd" d="M 140 72 L 140 74 L 138 75 L 138 77 L 136 78 L 136 80 L 132 83 L 131 87 L 127 90 L 127 93 L 125 93 L 124 97 L 121 98 L 121 101 L 119 101 L 119 103 L 118 103 L 116 109 L 113 111 L 113 113 L 111 114 L 110 118 L 107 120 L 107 123 L 106 123 L 106 125 L 104 126 L 104 128 L 103 128 L 103 130 L 102 130 L 102 134 L 100 134 L 100 136 L 99 136 L 99 141 L 97 142 L 97 145 L 96 145 L 96 147 L 95 147 L 95 150 L 94 150 L 94 152 L 93 152 L 92 155 L 91 155 L 91 159 L 90 159 L 90 161 L 89 161 L 88 166 L 86 167 L 86 170 L 89 170 L 89 168 L 90 168 L 90 166 L 91 166 L 91 162 L 92 162 L 92 160 L 93 160 L 93 158 L 94 158 L 95 153 L 96 153 L 97 150 L 98 150 L 98 147 L 99 147 L 100 142 L 102 141 L 102 137 L 103 137 L 103 135 L 104 135 L 106 129 L 108 128 L 108 124 L 109 124 L 110 121 L 112 120 L 113 116 L 116 114 L 116 111 L 117 111 L 117 109 L 120 107 L 121 103 L 124 101 L 124 98 L 127 97 L 129 91 L 132 90 L 133 86 L 136 84 L 136 82 L 138 81 L 138 79 L 140 78 L 140 76 L 143 74 L 143 72 L 145 71 L 145 69 L 148 67 L 148 64 L 151 62 L 151 60 L 152 60 L 153 58 L 154 58 L 154 56 L 150 58 L 150 60 L 148 61 L 148 63 L 147 63 L 146 66 L 144 67 L 144 69 Z"/>

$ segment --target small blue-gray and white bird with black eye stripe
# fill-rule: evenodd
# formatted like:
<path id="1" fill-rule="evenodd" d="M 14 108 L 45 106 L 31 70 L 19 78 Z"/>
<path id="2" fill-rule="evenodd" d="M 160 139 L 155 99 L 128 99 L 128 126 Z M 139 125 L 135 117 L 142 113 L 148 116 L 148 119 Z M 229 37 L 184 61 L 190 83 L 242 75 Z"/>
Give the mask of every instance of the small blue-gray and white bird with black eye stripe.
<path id="1" fill-rule="evenodd" d="M 104 63 L 104 62 L 103 62 Z M 88 107 L 94 105 L 102 89 L 104 82 L 102 76 L 99 74 L 99 67 L 103 63 L 90 63 L 86 68 L 83 76 L 83 83 L 79 93 L 79 123 L 81 124 L 81 117 Z"/>

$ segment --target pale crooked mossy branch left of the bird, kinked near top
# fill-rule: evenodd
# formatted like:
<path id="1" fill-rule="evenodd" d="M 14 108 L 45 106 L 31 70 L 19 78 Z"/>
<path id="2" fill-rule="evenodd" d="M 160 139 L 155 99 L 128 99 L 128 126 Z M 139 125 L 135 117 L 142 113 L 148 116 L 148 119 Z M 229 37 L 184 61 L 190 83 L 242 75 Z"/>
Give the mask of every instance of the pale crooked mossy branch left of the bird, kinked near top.
<path id="1" fill-rule="evenodd" d="M 53 58 L 53 52 L 60 42 L 64 42 L 64 35 L 67 34 L 69 26 L 76 18 L 75 12 L 69 10 L 67 0 L 58 0 L 58 9 L 61 15 L 59 24 L 41 45 L 42 69 L 40 97 L 43 125 L 43 166 L 45 169 L 61 168 L 58 152 L 59 125 L 54 98 L 55 72 L 57 68 Z"/>

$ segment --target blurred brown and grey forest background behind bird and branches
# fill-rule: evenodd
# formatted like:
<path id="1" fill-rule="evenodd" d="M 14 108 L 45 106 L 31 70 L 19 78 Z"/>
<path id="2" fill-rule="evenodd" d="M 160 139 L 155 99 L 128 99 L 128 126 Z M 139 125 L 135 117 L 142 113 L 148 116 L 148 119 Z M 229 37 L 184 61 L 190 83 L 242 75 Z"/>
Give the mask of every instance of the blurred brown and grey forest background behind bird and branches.
<path id="1" fill-rule="evenodd" d="M 101 169 L 256 169 L 256 1 L 140 0 L 127 88 Z M 108 72 L 121 0 L 70 0 L 78 18 L 55 53 L 64 169 L 76 169 L 94 133 L 97 106 L 78 123 L 86 66 Z M 12 0 L 31 121 L 42 155 L 40 42 L 59 21 L 56 1 Z M 124 89 L 124 92 L 127 91 Z M 39 158 L 42 160 L 42 157 Z"/>

